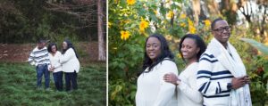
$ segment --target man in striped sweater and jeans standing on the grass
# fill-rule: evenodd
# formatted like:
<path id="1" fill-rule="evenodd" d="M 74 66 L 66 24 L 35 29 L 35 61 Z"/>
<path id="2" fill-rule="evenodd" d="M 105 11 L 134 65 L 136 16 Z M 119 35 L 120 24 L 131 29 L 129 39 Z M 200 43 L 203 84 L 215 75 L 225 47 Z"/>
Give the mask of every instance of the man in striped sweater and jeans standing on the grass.
<path id="1" fill-rule="evenodd" d="M 50 74 L 47 69 L 47 66 L 50 64 L 48 52 L 46 49 L 46 40 L 38 40 L 38 45 L 33 49 L 33 51 L 29 54 L 29 63 L 31 65 L 35 65 L 37 69 L 37 78 L 38 84 L 37 88 L 40 89 L 42 86 L 42 77 L 45 75 L 45 89 L 49 90 L 49 81 Z"/>

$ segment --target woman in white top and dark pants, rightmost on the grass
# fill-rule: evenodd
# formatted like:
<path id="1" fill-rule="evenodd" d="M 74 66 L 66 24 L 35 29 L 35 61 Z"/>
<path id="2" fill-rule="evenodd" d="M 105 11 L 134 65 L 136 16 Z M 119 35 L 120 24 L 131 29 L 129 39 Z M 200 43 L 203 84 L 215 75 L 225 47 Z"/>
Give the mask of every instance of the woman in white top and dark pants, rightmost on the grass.
<path id="1" fill-rule="evenodd" d="M 80 61 L 69 40 L 63 42 L 63 55 L 60 57 L 60 62 L 63 64 L 65 73 L 66 91 L 76 90 L 78 88 L 77 73 L 80 71 Z"/>

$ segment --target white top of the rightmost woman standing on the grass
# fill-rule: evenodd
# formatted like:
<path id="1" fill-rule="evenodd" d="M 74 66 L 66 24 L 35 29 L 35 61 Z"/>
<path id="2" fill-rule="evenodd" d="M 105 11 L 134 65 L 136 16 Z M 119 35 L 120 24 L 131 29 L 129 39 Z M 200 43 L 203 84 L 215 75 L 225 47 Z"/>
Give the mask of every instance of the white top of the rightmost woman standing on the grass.
<path id="1" fill-rule="evenodd" d="M 63 72 L 80 71 L 80 61 L 77 59 L 72 48 L 69 48 L 61 57 L 60 63 L 63 65 Z"/>

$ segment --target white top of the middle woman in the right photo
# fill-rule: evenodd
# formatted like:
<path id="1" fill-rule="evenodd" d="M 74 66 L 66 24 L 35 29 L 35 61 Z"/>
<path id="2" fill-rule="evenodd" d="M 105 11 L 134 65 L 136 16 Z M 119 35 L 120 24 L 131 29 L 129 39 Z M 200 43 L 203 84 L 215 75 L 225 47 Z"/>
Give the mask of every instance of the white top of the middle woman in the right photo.
<path id="1" fill-rule="evenodd" d="M 198 62 L 191 63 L 180 73 L 178 86 L 178 106 L 202 106 L 203 96 L 197 87 Z"/>

